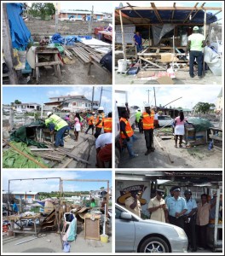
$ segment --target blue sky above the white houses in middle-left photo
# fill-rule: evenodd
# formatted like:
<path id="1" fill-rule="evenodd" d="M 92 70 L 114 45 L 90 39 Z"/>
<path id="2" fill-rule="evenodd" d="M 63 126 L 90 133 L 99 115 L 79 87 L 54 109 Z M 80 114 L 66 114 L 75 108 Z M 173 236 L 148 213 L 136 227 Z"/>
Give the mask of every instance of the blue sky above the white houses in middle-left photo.
<path id="1" fill-rule="evenodd" d="M 49 102 L 49 97 L 54 96 L 67 96 L 67 95 L 84 95 L 90 101 L 92 99 L 93 86 L 80 85 L 80 86 L 16 86 L 16 87 L 3 87 L 3 104 L 10 104 L 14 100 L 19 100 L 22 103 L 39 103 L 43 104 Z M 112 87 L 95 86 L 95 101 L 100 100 L 101 106 L 106 109 L 106 113 L 112 111 Z"/>

